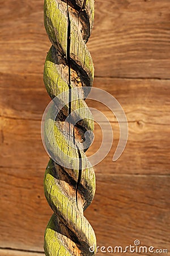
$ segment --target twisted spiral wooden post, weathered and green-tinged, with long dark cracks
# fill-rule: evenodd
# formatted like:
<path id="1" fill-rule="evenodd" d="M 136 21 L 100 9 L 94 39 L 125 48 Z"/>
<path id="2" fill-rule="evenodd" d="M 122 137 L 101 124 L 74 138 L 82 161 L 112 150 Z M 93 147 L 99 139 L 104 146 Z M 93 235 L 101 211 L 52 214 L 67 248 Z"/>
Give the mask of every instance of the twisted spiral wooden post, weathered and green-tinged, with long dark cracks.
<path id="1" fill-rule="evenodd" d="M 93 21 L 94 0 L 45 0 L 44 24 L 52 47 L 45 60 L 44 83 L 52 99 L 71 88 L 92 86 L 94 65 L 86 43 Z M 69 104 L 55 120 L 56 141 L 63 154 L 78 161 L 75 168 L 66 168 L 50 159 L 46 168 L 45 196 L 54 212 L 45 230 L 46 256 L 95 254 L 89 250 L 90 246 L 96 246 L 95 233 L 83 216 L 95 194 L 95 173 L 90 164 L 83 164 L 88 161 L 84 153 L 87 148 L 79 147 L 85 141 L 86 131 L 94 129 L 94 122 L 87 117 L 66 125 L 71 112 L 87 108 L 82 98 L 72 101 L 70 91 L 68 97 Z M 70 145 L 70 131 L 75 147 Z M 57 157 L 61 160 L 63 155 L 58 153 Z"/>

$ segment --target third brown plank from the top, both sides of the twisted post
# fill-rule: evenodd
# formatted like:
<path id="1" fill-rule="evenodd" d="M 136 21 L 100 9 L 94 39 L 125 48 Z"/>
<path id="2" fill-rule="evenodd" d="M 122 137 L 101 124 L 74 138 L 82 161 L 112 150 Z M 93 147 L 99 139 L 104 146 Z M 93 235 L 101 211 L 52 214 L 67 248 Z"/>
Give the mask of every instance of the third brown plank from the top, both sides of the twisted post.
<path id="1" fill-rule="evenodd" d="M 159 130 L 159 129 L 162 130 Z M 122 174 L 169 174 L 169 127 L 129 123 L 129 140 L 125 152 L 112 162 L 118 144 L 118 126 L 113 123 L 114 143 L 97 172 Z M 162 134 L 162 135 L 160 135 Z M 87 155 L 101 143 L 100 129 L 95 127 L 95 142 Z M 6 168 L 42 168 L 48 155 L 41 142 L 40 121 L 1 118 L 1 166 Z M 128 164 L 127 164 L 128 163 Z"/>

